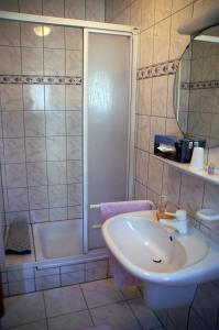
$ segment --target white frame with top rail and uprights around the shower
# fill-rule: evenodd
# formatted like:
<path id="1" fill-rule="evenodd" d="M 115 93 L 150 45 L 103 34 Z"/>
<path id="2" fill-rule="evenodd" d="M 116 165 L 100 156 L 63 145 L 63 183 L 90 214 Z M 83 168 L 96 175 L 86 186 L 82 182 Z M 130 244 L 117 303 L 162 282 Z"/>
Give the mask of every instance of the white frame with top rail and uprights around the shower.
<path id="1" fill-rule="evenodd" d="M 74 20 L 65 18 L 43 16 L 35 14 L 17 13 L 0 11 L 0 21 L 11 21 L 20 23 L 34 23 L 43 25 L 56 25 L 68 28 L 80 28 L 84 30 L 84 220 L 83 220 L 83 246 L 84 253 L 88 253 L 88 219 L 87 219 L 87 136 L 88 136 L 88 34 L 106 33 L 117 34 L 130 37 L 130 86 L 129 86 L 129 146 L 128 146 L 128 178 L 127 178 L 127 198 L 133 197 L 133 173 L 134 173 L 134 128 L 135 128 L 135 108 L 136 108 L 136 63 L 138 63 L 138 33 L 136 26 L 120 25 L 111 23 L 91 22 L 84 20 Z M 2 235 L 0 235 L 2 240 Z"/>

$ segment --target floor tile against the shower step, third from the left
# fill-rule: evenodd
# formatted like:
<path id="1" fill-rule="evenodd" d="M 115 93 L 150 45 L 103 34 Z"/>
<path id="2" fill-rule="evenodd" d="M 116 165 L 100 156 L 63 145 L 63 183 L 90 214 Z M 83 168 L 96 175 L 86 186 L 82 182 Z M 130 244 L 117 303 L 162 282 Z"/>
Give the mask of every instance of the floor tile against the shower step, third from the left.
<path id="1" fill-rule="evenodd" d="M 122 301 L 124 298 L 111 279 L 81 285 L 89 308 Z"/>

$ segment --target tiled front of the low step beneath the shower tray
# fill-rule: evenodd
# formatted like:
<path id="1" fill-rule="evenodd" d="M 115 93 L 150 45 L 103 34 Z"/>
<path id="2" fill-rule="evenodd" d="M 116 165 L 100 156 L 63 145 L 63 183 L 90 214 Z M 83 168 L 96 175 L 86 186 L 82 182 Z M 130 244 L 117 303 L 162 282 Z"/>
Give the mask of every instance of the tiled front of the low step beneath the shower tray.
<path id="1" fill-rule="evenodd" d="M 102 279 L 109 275 L 108 260 L 42 270 L 11 268 L 1 273 L 4 297 Z"/>

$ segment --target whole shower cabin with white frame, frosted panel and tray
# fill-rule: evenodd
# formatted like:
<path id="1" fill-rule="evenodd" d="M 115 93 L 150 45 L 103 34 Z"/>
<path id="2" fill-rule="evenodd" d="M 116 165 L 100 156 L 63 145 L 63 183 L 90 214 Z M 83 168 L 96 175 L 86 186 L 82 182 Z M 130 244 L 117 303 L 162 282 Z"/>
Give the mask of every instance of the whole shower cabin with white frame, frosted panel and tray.
<path id="1" fill-rule="evenodd" d="M 107 257 L 92 205 L 133 198 L 136 37 L 0 12 L 1 272 Z M 15 221 L 31 254 L 4 255 Z"/>

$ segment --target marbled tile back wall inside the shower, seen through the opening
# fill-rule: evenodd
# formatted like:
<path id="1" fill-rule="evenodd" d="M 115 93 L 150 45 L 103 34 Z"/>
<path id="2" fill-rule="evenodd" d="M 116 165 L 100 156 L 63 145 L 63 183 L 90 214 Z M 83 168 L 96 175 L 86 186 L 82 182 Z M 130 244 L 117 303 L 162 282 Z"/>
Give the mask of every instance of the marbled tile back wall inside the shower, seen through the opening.
<path id="1" fill-rule="evenodd" d="M 83 31 L 50 26 L 51 33 L 41 37 L 34 28 L 0 23 L 8 222 L 81 218 L 81 79 L 63 84 L 53 77 L 81 78 Z M 12 75 L 18 81 L 10 84 Z M 43 84 L 45 76 L 51 81 Z M 28 84 L 20 84 L 21 78 Z"/>

